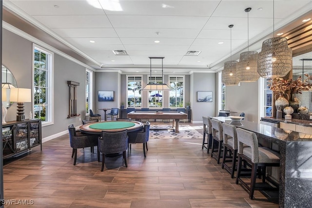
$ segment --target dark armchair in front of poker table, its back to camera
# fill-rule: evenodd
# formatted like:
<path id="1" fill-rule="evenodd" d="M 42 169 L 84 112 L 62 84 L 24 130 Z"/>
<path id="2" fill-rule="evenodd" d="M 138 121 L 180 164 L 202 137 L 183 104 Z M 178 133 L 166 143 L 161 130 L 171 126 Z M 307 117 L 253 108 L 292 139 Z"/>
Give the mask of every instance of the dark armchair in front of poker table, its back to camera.
<path id="1" fill-rule="evenodd" d="M 122 130 L 119 132 L 106 132 L 102 131 L 102 138 L 98 138 L 98 154 L 102 153 L 102 167 L 104 170 L 105 154 L 113 154 L 122 152 L 122 158 L 125 162 L 125 166 L 128 167 L 127 154 L 128 149 L 128 130 Z M 99 162 L 99 157 L 98 157 Z"/>

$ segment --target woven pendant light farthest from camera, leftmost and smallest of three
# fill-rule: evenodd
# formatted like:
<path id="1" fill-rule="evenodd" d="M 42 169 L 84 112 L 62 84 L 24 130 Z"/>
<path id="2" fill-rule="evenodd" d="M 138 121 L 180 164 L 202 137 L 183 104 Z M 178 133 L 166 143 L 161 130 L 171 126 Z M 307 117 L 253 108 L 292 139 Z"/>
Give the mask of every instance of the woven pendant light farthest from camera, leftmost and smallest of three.
<path id="1" fill-rule="evenodd" d="M 224 62 L 224 67 L 222 70 L 222 83 L 226 86 L 229 85 L 237 85 L 239 80 L 237 79 L 236 75 L 236 65 L 237 61 L 232 60 L 232 28 L 234 27 L 233 24 L 229 25 L 231 30 L 231 60 Z"/>

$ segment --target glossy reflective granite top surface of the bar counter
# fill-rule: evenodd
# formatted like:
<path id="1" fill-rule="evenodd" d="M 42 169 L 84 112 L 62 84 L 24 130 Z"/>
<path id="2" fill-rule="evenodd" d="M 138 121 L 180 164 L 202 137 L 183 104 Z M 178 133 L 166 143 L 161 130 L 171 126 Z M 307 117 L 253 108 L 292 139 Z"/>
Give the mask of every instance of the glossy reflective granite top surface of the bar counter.
<path id="1" fill-rule="evenodd" d="M 255 132 L 257 136 L 261 135 L 267 140 L 271 140 L 273 143 L 279 144 L 281 142 L 294 142 L 294 141 L 312 141 L 312 135 L 300 132 L 294 132 L 290 130 L 284 130 L 265 124 L 254 123 L 250 121 L 241 120 L 240 122 L 232 121 L 229 117 L 212 117 L 221 122 L 226 122 L 237 128 L 246 129 L 251 132 Z M 284 120 L 284 119 L 281 119 Z"/>

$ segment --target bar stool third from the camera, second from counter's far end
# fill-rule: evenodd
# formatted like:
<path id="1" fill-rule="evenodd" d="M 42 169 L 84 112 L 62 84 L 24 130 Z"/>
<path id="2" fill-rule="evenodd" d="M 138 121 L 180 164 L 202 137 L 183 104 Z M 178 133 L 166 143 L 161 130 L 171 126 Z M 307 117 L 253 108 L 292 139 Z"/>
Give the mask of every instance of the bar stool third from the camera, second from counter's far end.
<path id="1" fill-rule="evenodd" d="M 214 157 L 217 161 L 217 164 L 220 163 L 221 152 L 222 152 L 222 142 L 223 142 L 223 132 L 222 132 L 222 123 L 216 119 L 211 119 L 213 139 L 211 143 L 211 157 Z M 216 150 L 215 142 L 218 144 L 217 153 L 214 153 Z"/>

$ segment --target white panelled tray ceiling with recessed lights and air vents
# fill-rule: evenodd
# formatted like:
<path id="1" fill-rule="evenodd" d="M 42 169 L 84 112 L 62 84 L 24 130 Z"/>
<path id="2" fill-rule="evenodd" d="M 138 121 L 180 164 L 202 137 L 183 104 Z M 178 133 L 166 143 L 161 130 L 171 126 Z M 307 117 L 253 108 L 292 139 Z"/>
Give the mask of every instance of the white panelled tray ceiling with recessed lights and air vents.
<path id="1" fill-rule="evenodd" d="M 220 70 L 231 54 L 228 25 L 234 24 L 233 59 L 247 50 L 248 7 L 250 50 L 273 37 L 273 0 L 4 0 L 3 5 L 87 57 L 94 68 L 124 73 L 149 72 L 148 57 L 165 57 L 168 74 Z M 302 24 L 311 11 L 311 0 L 275 0 L 274 35 L 287 32 L 283 27 L 290 23 Z M 115 56 L 113 50 L 129 55 Z M 187 51 L 201 53 L 185 56 Z"/>

